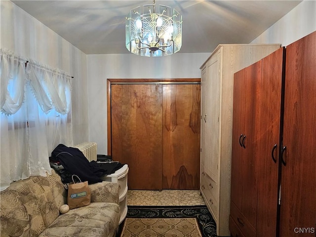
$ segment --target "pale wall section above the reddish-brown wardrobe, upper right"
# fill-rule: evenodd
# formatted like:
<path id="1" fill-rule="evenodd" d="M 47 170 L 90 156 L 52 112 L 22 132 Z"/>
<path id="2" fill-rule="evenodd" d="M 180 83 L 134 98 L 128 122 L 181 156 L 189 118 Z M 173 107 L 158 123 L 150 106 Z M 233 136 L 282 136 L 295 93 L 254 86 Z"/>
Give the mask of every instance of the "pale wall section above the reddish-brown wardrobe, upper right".
<path id="1" fill-rule="evenodd" d="M 316 0 L 304 0 L 251 44 L 287 46 L 316 31 Z"/>

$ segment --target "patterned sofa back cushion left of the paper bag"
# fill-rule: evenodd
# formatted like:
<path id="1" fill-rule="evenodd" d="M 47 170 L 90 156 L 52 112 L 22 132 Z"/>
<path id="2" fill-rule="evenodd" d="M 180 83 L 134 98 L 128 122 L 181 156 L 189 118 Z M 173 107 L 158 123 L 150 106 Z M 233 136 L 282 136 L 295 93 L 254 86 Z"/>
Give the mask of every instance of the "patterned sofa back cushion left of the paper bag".
<path id="1" fill-rule="evenodd" d="M 60 214 L 65 189 L 57 174 L 13 182 L 0 193 L 1 236 L 37 236 Z"/>

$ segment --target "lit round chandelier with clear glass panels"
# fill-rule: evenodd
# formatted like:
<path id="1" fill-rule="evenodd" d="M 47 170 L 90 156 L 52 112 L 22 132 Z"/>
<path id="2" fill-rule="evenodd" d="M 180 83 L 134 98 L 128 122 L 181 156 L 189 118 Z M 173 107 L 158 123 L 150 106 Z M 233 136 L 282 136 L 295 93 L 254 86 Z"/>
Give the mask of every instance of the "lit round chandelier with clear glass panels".
<path id="1" fill-rule="evenodd" d="M 153 4 L 130 10 L 125 23 L 125 45 L 141 56 L 165 56 L 182 46 L 182 16 L 170 6 Z"/>

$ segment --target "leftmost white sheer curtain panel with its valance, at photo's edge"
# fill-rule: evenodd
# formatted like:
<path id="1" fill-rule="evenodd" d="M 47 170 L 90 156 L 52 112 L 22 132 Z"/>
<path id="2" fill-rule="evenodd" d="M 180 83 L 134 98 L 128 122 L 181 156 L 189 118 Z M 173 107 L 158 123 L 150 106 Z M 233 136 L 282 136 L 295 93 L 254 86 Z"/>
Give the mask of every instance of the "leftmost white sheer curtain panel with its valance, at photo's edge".
<path id="1" fill-rule="evenodd" d="M 29 176 L 27 113 L 25 98 L 26 59 L 0 51 L 0 182 L 1 190 L 11 181 Z"/>

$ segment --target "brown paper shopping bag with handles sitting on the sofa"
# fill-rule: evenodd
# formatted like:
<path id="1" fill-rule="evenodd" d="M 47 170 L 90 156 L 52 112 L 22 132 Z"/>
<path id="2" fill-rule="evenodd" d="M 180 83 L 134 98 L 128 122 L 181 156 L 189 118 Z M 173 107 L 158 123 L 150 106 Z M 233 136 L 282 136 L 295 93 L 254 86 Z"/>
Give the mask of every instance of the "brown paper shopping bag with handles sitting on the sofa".
<path id="1" fill-rule="evenodd" d="M 75 183 L 74 177 L 80 181 Z M 91 191 L 88 182 L 81 182 L 77 175 L 73 175 L 73 183 L 68 186 L 67 204 L 69 209 L 90 205 Z"/>

